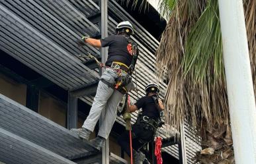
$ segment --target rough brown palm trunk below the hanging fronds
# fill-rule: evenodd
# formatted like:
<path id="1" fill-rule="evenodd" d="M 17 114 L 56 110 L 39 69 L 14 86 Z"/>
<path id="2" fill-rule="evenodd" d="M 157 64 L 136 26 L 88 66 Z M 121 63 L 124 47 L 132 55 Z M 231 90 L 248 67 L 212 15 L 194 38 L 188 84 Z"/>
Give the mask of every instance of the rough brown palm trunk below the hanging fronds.
<path id="1" fill-rule="evenodd" d="M 222 123 L 208 128 L 206 122 L 203 124 L 200 130 L 202 151 L 196 153 L 194 161 L 204 164 L 234 163 L 234 149 L 232 146 L 230 125 Z"/>

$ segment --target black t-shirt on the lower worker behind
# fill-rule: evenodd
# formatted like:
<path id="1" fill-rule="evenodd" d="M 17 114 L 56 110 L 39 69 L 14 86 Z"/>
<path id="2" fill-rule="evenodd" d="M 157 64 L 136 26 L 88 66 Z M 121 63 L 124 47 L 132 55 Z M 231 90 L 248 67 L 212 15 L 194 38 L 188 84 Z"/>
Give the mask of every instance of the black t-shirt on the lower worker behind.
<path id="1" fill-rule="evenodd" d="M 144 96 L 134 104 L 138 109 L 142 108 L 142 115 L 148 116 L 151 119 L 157 119 L 159 113 L 152 96 Z"/>

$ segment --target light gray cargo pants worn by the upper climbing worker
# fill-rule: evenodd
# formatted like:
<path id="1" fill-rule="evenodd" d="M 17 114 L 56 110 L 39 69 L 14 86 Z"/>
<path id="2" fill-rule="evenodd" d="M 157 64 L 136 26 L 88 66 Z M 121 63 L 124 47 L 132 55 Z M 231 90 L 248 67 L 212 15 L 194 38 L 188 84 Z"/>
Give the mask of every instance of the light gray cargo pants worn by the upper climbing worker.
<path id="1" fill-rule="evenodd" d="M 114 83 L 114 78 L 118 76 L 116 70 L 106 68 L 101 78 L 107 82 Z M 132 82 L 128 85 L 128 90 L 132 89 Z M 94 97 L 91 111 L 83 123 L 83 128 L 87 128 L 93 132 L 95 125 L 99 119 L 100 127 L 98 136 L 108 138 L 110 130 L 116 120 L 117 105 L 122 99 L 122 94 L 117 90 L 109 87 L 102 81 L 99 82 L 96 95 Z"/>

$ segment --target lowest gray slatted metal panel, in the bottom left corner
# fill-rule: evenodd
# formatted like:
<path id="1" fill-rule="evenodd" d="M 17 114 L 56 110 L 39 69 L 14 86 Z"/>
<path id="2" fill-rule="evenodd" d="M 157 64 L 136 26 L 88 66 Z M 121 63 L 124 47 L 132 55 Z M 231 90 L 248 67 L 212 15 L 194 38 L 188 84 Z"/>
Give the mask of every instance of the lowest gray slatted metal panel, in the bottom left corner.
<path id="1" fill-rule="evenodd" d="M 6 155 L 11 158 L 11 163 L 15 163 L 15 161 L 17 163 L 21 163 L 21 161 L 23 161 L 22 163 L 73 163 L 56 153 L 52 153 L 51 151 L 4 130 L 3 128 L 0 128 L 0 136 L 0 150 L 2 151 L 0 155 L 1 161 L 4 160 L 2 157 L 5 157 Z"/>

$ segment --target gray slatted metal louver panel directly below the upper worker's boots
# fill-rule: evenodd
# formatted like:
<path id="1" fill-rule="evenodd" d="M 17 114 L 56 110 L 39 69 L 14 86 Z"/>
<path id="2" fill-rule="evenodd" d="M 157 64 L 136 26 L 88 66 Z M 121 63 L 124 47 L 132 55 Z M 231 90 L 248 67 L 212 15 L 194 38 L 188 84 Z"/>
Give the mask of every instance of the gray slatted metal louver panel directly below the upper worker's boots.
<path id="1" fill-rule="evenodd" d="M 0 127 L 69 159 L 96 152 L 77 134 L 1 94 Z"/>

